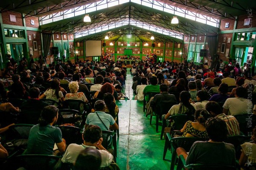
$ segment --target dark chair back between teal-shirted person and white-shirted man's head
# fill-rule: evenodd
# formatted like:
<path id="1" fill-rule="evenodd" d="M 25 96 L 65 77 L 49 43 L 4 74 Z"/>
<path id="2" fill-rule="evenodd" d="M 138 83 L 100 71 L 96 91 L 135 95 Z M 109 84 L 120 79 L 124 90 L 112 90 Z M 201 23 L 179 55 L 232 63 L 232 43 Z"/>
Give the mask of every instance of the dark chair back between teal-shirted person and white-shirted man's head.
<path id="1" fill-rule="evenodd" d="M 81 129 L 74 126 L 57 126 L 61 129 L 62 138 L 66 140 L 67 145 L 76 143 L 81 144 L 83 142 Z"/>

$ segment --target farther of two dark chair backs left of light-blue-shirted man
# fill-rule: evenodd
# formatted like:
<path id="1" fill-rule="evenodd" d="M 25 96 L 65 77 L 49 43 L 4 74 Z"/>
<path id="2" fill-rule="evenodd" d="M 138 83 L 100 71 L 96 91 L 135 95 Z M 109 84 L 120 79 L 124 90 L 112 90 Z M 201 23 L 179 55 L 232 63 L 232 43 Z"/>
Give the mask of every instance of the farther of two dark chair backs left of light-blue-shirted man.
<path id="1" fill-rule="evenodd" d="M 79 111 L 73 110 L 73 109 L 60 109 L 58 111 L 59 113 L 59 123 L 64 124 L 64 123 L 73 123 L 75 124 L 75 116 L 76 114 L 80 114 Z"/>

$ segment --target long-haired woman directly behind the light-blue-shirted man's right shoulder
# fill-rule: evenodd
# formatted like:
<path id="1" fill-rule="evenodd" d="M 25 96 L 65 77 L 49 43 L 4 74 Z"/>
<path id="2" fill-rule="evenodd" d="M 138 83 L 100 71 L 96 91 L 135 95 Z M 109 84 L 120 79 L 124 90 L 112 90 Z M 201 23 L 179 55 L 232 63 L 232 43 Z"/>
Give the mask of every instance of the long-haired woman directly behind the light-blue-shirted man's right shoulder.
<path id="1" fill-rule="evenodd" d="M 109 113 L 116 121 L 116 116 L 119 112 L 119 108 L 116 105 L 116 100 L 111 93 L 106 93 L 103 96 L 103 100 L 106 104 L 105 112 Z"/>

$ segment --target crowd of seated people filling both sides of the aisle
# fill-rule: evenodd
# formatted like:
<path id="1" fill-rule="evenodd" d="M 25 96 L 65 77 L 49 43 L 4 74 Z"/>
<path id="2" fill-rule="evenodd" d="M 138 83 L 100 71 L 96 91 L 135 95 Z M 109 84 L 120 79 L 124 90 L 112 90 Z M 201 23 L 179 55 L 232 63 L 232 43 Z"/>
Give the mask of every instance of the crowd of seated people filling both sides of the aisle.
<path id="1" fill-rule="evenodd" d="M 138 60 L 130 69 L 135 99 L 143 102 L 145 96 L 145 101 L 151 103 L 149 107 L 159 115 L 163 126 L 168 127 L 175 123 L 169 119 L 170 116 L 186 114 L 195 117 L 194 121 L 187 121 L 180 129 L 180 135 L 174 136 L 201 137 L 208 140 L 196 142 L 188 156 L 186 152 L 189 150 L 177 149 L 177 153 L 187 158 L 189 164 L 208 163 L 204 155 L 221 148 L 222 152 L 212 158 L 212 163 L 233 166 L 234 147 L 223 141 L 227 136 L 241 134 L 236 115 L 254 112 L 256 81 L 252 79 L 250 63 L 239 69 L 236 66 L 238 63 L 224 65 L 222 62 L 220 60 L 219 68 L 211 69 L 208 63 L 194 65 L 186 60 L 184 63 Z M 127 68 L 122 62 L 103 63 L 88 60 L 75 63 L 59 61 L 49 64 L 48 67 L 45 62 L 38 65 L 35 68 L 32 64 L 31 68 L 25 67 L 20 75 L 13 72 L 13 84 L 8 91 L 3 82 L 0 82 L 1 99 L 26 100 L 20 108 L 15 108 L 8 102 L 1 103 L 1 111 L 41 111 L 39 124 L 31 129 L 26 154 L 63 153 L 63 158 L 54 164 L 56 168 L 61 166 L 61 162 L 81 167 L 83 162 L 80 159 L 87 157 L 87 154 L 93 154 L 95 159 L 101 157 L 100 160 L 95 160 L 100 167 L 113 164 L 113 150 L 102 146 L 101 136 L 102 130 L 119 128 L 116 122 L 119 113 L 116 101 L 124 96 L 121 91 L 125 85 Z M 230 75 L 232 70 L 235 74 Z M 87 78 L 94 79 L 94 84 L 81 81 Z M 87 86 L 88 84 L 90 86 Z M 152 92 L 159 94 L 149 98 L 147 94 Z M 46 105 L 40 101 L 44 98 L 54 100 L 55 104 Z M 86 119 L 81 124 L 81 127 L 84 126 L 83 143 L 67 146 L 67 139 L 62 138 L 61 130 L 54 125 L 58 121 L 58 109 L 61 109 L 62 102 L 69 99 L 82 101 L 80 112 L 85 110 L 86 104 L 90 105 L 92 110 L 86 111 Z M 33 104 L 34 102 L 37 102 L 37 105 Z M 9 126 L 3 127 L 0 132 L 8 130 Z M 253 150 L 256 148 L 255 132 L 256 129 L 253 130 L 253 143 L 250 143 Z M 53 152 L 53 148 L 57 150 Z M 244 145 L 242 149 L 239 163 L 244 165 L 247 160 L 256 163 L 253 154 L 246 156 L 248 151 Z M 204 150 L 207 152 L 204 153 Z M 1 158 L 8 156 L 7 150 L 1 144 L 0 153 Z"/>

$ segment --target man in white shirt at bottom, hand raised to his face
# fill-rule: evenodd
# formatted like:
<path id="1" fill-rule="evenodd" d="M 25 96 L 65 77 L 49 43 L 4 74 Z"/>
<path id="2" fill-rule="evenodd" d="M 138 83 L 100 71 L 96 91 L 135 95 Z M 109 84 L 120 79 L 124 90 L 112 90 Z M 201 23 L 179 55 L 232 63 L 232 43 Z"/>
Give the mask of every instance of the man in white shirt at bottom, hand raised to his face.
<path id="1" fill-rule="evenodd" d="M 99 126 L 96 125 L 88 125 L 83 133 L 83 140 L 82 144 L 70 144 L 67 147 L 67 150 L 62 157 L 61 161 L 63 163 L 71 163 L 74 164 L 79 153 L 84 150 L 85 148 L 95 148 L 99 149 L 99 152 L 102 157 L 102 163 L 100 167 L 107 167 L 111 164 L 113 160 L 113 155 L 102 146 L 102 130 Z"/>

